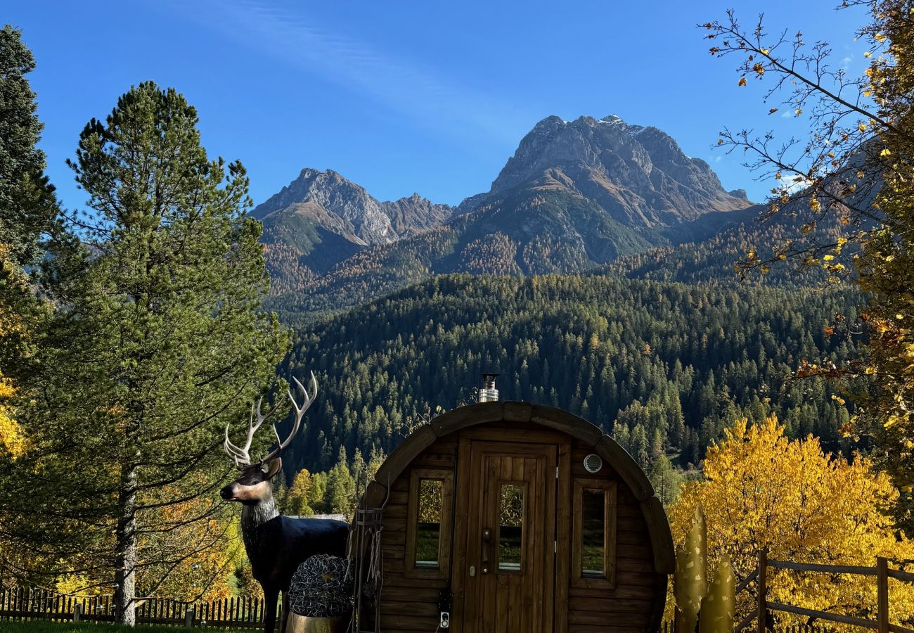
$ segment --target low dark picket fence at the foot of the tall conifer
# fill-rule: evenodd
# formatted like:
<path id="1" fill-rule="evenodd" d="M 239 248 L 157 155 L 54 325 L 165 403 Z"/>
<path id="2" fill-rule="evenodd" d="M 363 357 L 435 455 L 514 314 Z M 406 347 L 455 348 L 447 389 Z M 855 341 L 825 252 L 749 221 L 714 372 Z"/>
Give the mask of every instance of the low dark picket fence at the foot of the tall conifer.
<path id="1" fill-rule="evenodd" d="M 262 628 L 264 602 L 226 598 L 186 603 L 172 598 L 137 598 L 137 624 L 184 627 Z M 277 614 L 279 616 L 279 614 Z M 0 620 L 113 622 L 111 595 L 79 597 L 34 587 L 0 589 Z"/>

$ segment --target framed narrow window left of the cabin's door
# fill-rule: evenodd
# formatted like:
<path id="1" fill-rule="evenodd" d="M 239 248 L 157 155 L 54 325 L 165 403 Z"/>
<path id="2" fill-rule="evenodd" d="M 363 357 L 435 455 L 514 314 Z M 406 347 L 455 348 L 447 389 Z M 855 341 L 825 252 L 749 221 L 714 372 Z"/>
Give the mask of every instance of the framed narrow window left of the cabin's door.
<path id="1" fill-rule="evenodd" d="M 453 472 L 413 468 L 409 475 L 406 574 L 446 578 L 451 558 Z"/>

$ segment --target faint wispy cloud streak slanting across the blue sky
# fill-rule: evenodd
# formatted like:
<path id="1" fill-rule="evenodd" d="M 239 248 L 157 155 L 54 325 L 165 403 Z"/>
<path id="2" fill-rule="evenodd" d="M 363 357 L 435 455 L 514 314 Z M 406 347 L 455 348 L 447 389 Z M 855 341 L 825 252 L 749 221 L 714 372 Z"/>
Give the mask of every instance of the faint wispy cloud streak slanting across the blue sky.
<path id="1" fill-rule="evenodd" d="M 182 5 L 180 10 L 303 73 L 335 82 L 437 131 L 450 128 L 467 141 L 467 132 L 516 140 L 516 130 L 505 123 L 529 119 L 511 103 L 448 80 L 418 60 L 398 59 L 259 0 L 221 0 L 193 8 Z"/>

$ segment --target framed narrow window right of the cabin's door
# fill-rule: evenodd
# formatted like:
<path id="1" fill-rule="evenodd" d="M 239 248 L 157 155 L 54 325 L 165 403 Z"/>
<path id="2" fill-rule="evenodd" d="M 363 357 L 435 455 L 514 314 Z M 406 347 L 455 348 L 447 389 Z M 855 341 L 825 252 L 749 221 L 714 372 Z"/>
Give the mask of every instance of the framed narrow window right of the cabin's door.
<path id="1" fill-rule="evenodd" d="M 615 586 L 616 483 L 578 478 L 574 482 L 572 584 Z"/>

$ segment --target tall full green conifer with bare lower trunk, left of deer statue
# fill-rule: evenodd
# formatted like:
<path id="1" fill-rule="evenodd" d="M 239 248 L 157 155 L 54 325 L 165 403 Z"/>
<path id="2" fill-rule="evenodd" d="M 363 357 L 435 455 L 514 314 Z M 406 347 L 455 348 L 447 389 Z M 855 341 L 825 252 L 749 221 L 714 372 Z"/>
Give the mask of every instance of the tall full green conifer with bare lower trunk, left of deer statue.
<path id="1" fill-rule="evenodd" d="M 56 288 L 42 352 L 54 370 L 20 460 L 53 495 L 9 490 L 31 497 L 18 511 L 37 557 L 71 567 L 48 571 L 108 578 L 127 625 L 138 582 L 152 593 L 190 554 L 175 533 L 197 530 L 191 550 L 218 539 L 221 434 L 288 348 L 260 307 L 269 280 L 245 170 L 207 157 L 197 121 L 181 94 L 145 82 L 80 134 L 70 166 L 89 210 L 69 220 L 90 257 Z"/>

